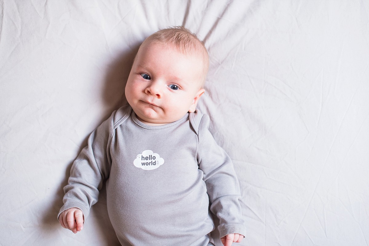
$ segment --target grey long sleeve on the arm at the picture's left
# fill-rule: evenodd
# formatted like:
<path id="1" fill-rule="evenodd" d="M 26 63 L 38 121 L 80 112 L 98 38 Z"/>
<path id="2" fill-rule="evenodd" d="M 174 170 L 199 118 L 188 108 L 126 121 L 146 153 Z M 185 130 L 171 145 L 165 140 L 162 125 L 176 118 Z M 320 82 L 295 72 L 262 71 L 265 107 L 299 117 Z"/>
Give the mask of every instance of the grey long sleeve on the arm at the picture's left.
<path id="1" fill-rule="evenodd" d="M 113 122 L 114 113 L 90 134 L 87 146 L 73 162 L 58 218 L 61 212 L 76 207 L 82 210 L 86 219 L 91 206 L 97 202 L 103 180 L 110 172 Z"/>

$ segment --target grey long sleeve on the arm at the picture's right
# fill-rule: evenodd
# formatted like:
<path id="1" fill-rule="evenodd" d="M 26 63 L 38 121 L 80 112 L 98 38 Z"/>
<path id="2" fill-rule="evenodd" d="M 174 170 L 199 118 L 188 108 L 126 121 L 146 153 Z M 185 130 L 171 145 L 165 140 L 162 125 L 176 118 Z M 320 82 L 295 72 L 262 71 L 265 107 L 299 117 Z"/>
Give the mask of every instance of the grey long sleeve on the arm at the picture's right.
<path id="1" fill-rule="evenodd" d="M 239 203 L 240 188 L 230 157 L 208 131 L 209 117 L 204 115 L 199 124 L 199 168 L 210 199 L 210 210 L 220 220 L 220 237 L 230 233 L 245 235 L 246 228 Z"/>

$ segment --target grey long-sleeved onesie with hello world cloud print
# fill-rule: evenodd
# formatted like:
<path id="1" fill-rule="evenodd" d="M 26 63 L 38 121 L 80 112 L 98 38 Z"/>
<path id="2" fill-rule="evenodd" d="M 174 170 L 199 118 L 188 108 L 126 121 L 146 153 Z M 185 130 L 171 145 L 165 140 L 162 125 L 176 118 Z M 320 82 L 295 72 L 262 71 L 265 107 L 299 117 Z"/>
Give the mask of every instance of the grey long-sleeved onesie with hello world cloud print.
<path id="1" fill-rule="evenodd" d="M 108 178 L 108 214 L 124 246 L 206 246 L 215 229 L 209 208 L 220 219 L 221 237 L 245 235 L 238 180 L 208 124 L 196 111 L 148 126 L 130 106 L 118 109 L 74 162 L 59 215 L 77 207 L 86 219 Z"/>

